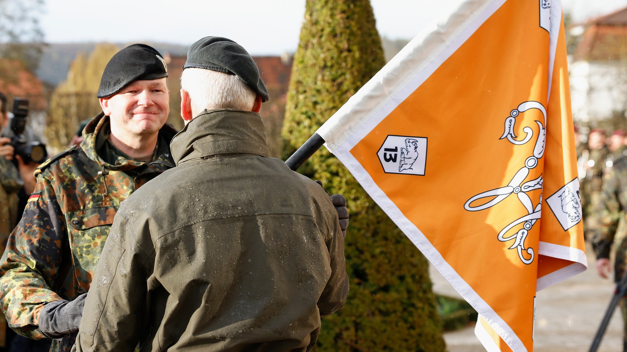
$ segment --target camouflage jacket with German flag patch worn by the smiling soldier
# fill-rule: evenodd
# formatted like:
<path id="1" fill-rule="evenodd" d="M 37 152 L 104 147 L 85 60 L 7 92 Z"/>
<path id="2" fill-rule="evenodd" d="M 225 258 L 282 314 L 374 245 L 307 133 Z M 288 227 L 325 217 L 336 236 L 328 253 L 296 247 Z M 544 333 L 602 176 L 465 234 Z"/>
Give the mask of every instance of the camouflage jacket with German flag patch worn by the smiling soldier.
<path id="1" fill-rule="evenodd" d="M 130 160 L 108 142 L 103 113 L 83 130 L 84 140 L 41 164 L 36 186 L 0 259 L 0 304 L 9 326 L 33 339 L 41 308 L 88 291 L 113 216 L 122 200 L 159 173 L 174 167 L 169 142 L 159 132 L 150 163 Z M 53 341 L 51 351 L 70 351 L 75 334 Z"/>

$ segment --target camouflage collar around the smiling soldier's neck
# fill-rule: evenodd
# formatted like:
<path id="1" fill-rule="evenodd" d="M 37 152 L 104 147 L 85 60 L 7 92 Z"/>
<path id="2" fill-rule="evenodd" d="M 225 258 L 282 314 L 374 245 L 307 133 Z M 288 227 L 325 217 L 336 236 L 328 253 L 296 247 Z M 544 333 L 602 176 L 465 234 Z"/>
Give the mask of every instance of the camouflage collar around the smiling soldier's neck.
<path id="1" fill-rule="evenodd" d="M 102 151 L 103 145 L 107 142 L 110 133 L 109 116 L 106 116 L 102 112 L 94 116 L 94 118 L 87 123 L 83 130 L 83 142 L 80 143 L 80 147 L 85 154 L 87 154 L 88 158 L 108 170 L 130 170 L 145 165 L 144 162 L 130 160 L 124 157 L 117 157 L 114 164 L 107 162 L 107 160 L 100 155 L 100 152 Z M 167 123 L 159 130 L 159 143 L 157 143 L 157 147 L 159 148 L 157 150 L 158 155 L 152 163 L 161 163 L 169 167 L 174 167 L 174 160 L 172 160 L 172 155 L 169 148 L 167 148 L 167 143 L 171 142 L 175 134 L 176 130 L 174 127 Z"/>

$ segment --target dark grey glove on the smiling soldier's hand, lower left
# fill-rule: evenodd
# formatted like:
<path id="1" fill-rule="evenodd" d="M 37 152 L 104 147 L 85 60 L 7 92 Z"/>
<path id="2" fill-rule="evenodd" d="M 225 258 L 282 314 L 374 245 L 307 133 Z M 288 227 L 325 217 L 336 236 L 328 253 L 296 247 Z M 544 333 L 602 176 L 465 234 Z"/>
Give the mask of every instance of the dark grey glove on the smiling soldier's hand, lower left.
<path id="1" fill-rule="evenodd" d="M 47 338 L 59 339 L 77 331 L 83 317 L 85 298 L 87 293 L 78 296 L 74 301 L 60 299 L 43 306 L 39 321 L 41 333 Z"/>

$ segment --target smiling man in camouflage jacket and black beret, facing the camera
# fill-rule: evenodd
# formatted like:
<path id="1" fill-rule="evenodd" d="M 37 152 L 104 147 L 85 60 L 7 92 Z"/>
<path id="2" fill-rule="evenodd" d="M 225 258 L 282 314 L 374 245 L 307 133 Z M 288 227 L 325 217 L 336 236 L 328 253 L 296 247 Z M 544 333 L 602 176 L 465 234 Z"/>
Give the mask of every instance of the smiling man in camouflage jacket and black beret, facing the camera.
<path id="1" fill-rule="evenodd" d="M 166 63 L 133 44 L 102 75 L 102 113 L 83 142 L 46 161 L 1 259 L 0 303 L 9 326 L 69 351 L 113 216 L 140 185 L 174 167 Z"/>

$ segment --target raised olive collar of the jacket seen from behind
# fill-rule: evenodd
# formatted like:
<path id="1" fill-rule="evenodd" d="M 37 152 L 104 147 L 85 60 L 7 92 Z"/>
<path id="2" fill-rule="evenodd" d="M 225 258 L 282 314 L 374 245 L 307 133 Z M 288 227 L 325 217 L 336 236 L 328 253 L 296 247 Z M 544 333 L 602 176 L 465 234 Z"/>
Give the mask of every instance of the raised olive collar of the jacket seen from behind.
<path id="1" fill-rule="evenodd" d="M 261 115 L 234 109 L 204 110 L 170 144 L 174 162 L 228 153 L 268 156 Z"/>

